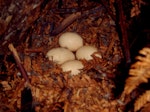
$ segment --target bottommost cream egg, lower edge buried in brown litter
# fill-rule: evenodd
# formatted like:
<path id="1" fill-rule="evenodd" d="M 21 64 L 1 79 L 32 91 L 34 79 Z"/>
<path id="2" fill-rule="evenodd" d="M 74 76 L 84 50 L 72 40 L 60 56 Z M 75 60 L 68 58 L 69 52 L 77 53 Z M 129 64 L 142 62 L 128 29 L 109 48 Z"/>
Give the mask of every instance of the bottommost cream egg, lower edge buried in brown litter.
<path id="1" fill-rule="evenodd" d="M 83 69 L 83 64 L 79 60 L 67 61 L 61 65 L 63 72 L 69 72 L 71 75 L 78 75 Z"/>

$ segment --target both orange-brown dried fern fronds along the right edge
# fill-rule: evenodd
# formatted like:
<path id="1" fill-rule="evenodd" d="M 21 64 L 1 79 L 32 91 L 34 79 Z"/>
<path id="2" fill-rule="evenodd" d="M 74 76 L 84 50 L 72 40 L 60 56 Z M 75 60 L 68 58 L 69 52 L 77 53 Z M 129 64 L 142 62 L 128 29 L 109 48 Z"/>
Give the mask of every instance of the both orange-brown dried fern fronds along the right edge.
<path id="1" fill-rule="evenodd" d="M 134 63 L 129 70 L 130 77 L 126 80 L 122 98 L 130 94 L 141 83 L 147 83 L 150 78 L 150 48 L 143 48 L 139 51 L 141 54 L 137 56 L 137 62 Z M 134 104 L 134 111 L 138 111 L 147 101 L 150 101 L 150 90 L 146 91 Z"/>

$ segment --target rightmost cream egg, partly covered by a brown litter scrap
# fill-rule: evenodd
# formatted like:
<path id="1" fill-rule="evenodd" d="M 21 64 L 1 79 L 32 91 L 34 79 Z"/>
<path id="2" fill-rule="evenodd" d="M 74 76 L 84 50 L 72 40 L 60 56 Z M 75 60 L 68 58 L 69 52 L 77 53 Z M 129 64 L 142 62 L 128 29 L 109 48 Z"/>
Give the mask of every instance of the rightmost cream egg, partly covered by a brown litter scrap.
<path id="1" fill-rule="evenodd" d="M 76 51 L 77 59 L 92 60 L 93 53 L 98 52 L 97 48 L 94 46 L 83 46 Z M 96 57 L 102 58 L 101 54 L 95 54 Z"/>

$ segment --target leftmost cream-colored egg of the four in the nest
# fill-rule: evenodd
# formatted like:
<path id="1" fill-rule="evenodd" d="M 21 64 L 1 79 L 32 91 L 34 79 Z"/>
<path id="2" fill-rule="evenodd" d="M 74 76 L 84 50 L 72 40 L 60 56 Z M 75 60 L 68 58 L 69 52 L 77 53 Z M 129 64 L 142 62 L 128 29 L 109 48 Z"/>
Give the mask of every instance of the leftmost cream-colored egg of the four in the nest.
<path id="1" fill-rule="evenodd" d="M 46 57 L 57 64 L 62 64 L 66 61 L 75 59 L 75 55 L 70 50 L 61 47 L 49 50 Z"/>

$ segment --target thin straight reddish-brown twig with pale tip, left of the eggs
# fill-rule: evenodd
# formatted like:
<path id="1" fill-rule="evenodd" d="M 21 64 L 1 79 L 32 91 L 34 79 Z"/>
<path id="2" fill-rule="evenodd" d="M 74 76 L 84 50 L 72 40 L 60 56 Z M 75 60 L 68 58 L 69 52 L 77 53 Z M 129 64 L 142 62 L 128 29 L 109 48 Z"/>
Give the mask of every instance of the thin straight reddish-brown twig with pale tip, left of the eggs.
<path id="1" fill-rule="evenodd" d="M 18 65 L 18 68 L 23 76 L 23 78 L 25 79 L 26 82 L 29 82 L 29 78 L 27 75 L 26 70 L 24 69 L 23 65 L 21 64 L 21 60 L 19 58 L 19 55 L 17 53 L 17 50 L 14 48 L 13 44 L 9 44 L 8 45 L 9 50 L 13 53 L 13 57 Z"/>

